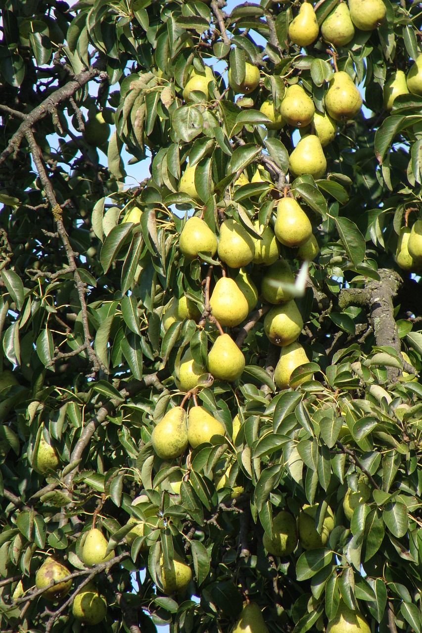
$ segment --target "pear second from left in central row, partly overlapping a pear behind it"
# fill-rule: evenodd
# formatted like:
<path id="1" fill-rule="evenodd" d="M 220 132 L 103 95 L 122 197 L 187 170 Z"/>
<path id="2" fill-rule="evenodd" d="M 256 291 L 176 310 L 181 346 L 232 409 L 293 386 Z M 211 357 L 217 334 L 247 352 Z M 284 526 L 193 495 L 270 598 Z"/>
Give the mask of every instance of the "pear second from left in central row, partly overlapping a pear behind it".
<path id="1" fill-rule="evenodd" d="M 218 254 L 231 268 L 247 266 L 255 256 L 255 244 L 252 237 L 232 218 L 222 223 Z"/>

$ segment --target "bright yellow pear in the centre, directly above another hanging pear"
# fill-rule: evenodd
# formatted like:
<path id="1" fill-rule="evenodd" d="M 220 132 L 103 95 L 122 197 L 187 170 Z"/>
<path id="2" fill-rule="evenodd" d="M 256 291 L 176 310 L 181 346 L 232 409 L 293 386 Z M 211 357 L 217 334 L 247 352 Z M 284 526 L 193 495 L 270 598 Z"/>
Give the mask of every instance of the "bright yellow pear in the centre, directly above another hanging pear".
<path id="1" fill-rule="evenodd" d="M 210 298 L 212 314 L 221 325 L 234 327 L 249 313 L 248 301 L 234 279 L 221 277 Z"/>

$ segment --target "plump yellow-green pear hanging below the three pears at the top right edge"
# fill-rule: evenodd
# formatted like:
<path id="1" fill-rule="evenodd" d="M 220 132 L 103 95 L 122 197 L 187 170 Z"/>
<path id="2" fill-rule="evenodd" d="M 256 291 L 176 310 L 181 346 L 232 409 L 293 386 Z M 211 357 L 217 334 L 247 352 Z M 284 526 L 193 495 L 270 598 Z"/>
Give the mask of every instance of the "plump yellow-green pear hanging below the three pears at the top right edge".
<path id="1" fill-rule="evenodd" d="M 361 93 L 352 77 L 343 70 L 334 73 L 329 82 L 325 107 L 329 116 L 336 121 L 348 121 L 354 118 L 362 108 Z"/>

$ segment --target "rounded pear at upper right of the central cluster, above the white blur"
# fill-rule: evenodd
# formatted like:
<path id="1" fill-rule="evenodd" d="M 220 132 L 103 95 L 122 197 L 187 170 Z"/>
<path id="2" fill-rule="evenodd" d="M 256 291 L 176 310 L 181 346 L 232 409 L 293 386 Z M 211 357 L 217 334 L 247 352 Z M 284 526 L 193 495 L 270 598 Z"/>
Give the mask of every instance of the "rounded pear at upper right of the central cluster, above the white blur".
<path id="1" fill-rule="evenodd" d="M 302 246 L 312 235 L 312 224 L 294 198 L 284 197 L 277 205 L 274 231 L 278 241 L 284 246 Z"/>

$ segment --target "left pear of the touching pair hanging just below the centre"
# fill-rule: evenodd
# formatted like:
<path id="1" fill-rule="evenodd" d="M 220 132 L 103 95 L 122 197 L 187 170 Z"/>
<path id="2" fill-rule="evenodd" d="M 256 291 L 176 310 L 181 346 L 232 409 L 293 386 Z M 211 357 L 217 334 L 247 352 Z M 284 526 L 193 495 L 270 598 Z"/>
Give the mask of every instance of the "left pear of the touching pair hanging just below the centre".
<path id="1" fill-rule="evenodd" d="M 188 425 L 186 411 L 175 406 L 167 411 L 151 434 L 155 453 L 163 460 L 180 457 L 188 448 Z"/>

